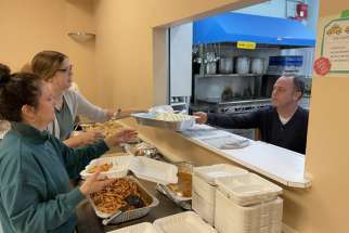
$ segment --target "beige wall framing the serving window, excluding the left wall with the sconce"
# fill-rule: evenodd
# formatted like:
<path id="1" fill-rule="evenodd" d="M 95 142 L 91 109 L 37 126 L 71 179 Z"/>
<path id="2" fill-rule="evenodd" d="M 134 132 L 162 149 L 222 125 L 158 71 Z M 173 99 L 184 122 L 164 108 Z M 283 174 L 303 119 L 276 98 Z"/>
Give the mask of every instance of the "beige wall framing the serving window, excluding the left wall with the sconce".
<path id="1" fill-rule="evenodd" d="M 99 2 L 98 61 L 107 64 L 103 72 L 113 74 L 108 85 L 117 90 L 111 104 L 142 107 L 152 104 L 152 26 L 167 25 L 229 1 L 199 1 L 199 5 L 192 2 L 195 1 Z M 338 13 L 340 7 L 349 9 L 348 1 L 321 1 L 321 15 Z M 314 78 L 307 153 L 307 170 L 313 176 L 313 185 L 309 190 L 284 186 L 283 195 L 284 222 L 298 232 L 348 232 L 346 132 L 349 125 L 346 119 L 349 119 L 349 111 L 344 107 L 349 98 L 346 94 L 348 86 L 348 78 Z M 145 127 L 139 129 L 173 159 L 189 159 L 196 165 L 227 163 L 176 133 Z"/>

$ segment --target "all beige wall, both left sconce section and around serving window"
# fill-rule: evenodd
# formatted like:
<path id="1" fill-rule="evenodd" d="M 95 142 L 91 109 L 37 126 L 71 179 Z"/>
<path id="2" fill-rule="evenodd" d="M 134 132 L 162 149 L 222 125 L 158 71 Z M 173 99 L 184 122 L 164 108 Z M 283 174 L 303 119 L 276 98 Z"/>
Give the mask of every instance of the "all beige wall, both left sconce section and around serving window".
<path id="1" fill-rule="evenodd" d="M 154 101 L 153 65 L 156 67 L 152 28 L 251 2 L 1 0 L 0 62 L 16 70 L 40 50 L 59 50 L 72 57 L 77 66 L 75 78 L 90 100 L 109 107 L 147 107 Z M 321 0 L 321 16 L 338 14 L 341 9 L 349 9 L 348 1 Z M 95 48 L 66 36 L 75 29 L 94 30 Z M 284 221 L 299 232 L 348 232 L 348 77 L 313 80 L 307 151 L 313 186 L 306 191 L 287 189 L 284 194 Z M 197 165 L 228 163 L 174 133 L 140 130 L 174 159 Z"/>

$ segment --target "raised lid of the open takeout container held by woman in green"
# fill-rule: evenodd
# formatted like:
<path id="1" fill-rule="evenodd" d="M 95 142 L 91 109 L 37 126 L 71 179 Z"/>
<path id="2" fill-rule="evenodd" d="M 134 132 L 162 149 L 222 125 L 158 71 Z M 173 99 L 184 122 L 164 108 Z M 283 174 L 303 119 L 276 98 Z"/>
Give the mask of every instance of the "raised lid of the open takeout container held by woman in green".
<path id="1" fill-rule="evenodd" d="M 132 158 L 130 170 L 135 177 L 160 184 L 177 183 L 178 168 L 164 161 L 137 156 Z"/>

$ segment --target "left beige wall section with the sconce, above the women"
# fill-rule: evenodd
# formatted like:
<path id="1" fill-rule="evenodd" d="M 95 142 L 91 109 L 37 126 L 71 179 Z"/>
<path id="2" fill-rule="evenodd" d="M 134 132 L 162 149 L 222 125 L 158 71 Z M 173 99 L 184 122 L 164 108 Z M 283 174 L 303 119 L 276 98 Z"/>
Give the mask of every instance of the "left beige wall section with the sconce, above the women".
<path id="1" fill-rule="evenodd" d="M 42 50 L 66 53 L 83 94 L 95 98 L 94 42 L 77 43 L 72 30 L 94 31 L 92 0 L 0 0 L 0 62 L 13 72 Z M 99 102 L 103 105 L 103 101 Z"/>

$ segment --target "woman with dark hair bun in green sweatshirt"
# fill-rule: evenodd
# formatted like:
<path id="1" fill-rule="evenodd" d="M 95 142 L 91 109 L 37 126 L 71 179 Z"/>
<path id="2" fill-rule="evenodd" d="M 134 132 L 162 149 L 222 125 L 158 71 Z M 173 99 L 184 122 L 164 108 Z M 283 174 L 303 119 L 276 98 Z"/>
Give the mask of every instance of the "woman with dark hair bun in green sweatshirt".
<path id="1" fill-rule="evenodd" d="M 96 172 L 70 190 L 69 178 L 137 137 L 128 129 L 77 150 L 66 146 L 46 130 L 55 118 L 49 86 L 34 74 L 0 76 L 0 119 L 11 122 L 0 142 L 0 222 L 7 233 L 73 233 L 77 205 L 112 180 L 98 180 Z"/>

